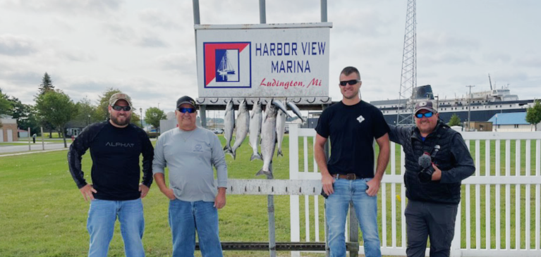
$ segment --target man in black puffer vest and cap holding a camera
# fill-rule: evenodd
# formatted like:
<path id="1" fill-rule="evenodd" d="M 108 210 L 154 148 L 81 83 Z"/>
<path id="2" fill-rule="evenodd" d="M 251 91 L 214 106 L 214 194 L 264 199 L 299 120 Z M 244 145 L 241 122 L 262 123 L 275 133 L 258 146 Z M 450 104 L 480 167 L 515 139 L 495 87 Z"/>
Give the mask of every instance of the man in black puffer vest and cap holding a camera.
<path id="1" fill-rule="evenodd" d="M 415 126 L 390 125 L 389 138 L 406 154 L 408 257 L 449 256 L 461 181 L 475 172 L 461 134 L 438 120 L 432 101 L 415 105 Z"/>

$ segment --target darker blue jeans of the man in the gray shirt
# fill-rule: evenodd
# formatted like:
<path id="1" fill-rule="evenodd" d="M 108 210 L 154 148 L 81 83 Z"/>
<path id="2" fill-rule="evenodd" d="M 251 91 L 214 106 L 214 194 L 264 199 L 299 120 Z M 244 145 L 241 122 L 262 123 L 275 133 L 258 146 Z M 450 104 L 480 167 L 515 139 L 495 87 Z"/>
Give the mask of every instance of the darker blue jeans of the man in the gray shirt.
<path id="1" fill-rule="evenodd" d="M 173 234 L 174 257 L 193 257 L 196 230 L 202 256 L 223 256 L 218 233 L 218 210 L 214 202 L 169 201 L 169 226 Z"/>

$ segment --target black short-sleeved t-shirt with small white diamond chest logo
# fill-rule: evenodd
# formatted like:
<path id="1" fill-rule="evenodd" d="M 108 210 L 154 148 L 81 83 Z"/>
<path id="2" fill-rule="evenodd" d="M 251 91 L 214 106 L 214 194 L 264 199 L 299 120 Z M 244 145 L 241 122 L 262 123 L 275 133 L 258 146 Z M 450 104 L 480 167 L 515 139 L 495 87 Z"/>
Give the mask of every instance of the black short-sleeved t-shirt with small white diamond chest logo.
<path id="1" fill-rule="evenodd" d="M 375 106 L 365 101 L 346 106 L 340 101 L 323 111 L 315 131 L 330 137 L 329 173 L 374 177 L 372 145 L 374 139 L 389 132 L 389 125 Z"/>

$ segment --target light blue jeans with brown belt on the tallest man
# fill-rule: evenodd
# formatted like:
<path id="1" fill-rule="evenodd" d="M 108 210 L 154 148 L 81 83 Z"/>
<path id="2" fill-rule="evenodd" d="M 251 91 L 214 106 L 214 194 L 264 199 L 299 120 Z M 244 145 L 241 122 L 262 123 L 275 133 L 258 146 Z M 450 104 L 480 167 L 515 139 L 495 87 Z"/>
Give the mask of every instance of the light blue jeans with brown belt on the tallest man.
<path id="1" fill-rule="evenodd" d="M 353 202 L 355 214 L 363 232 L 365 256 L 382 256 L 377 232 L 377 196 L 368 196 L 366 182 L 363 180 L 335 180 L 334 194 L 325 201 L 325 215 L 329 227 L 328 244 L 331 256 L 346 256 L 346 217 L 349 202 Z"/>

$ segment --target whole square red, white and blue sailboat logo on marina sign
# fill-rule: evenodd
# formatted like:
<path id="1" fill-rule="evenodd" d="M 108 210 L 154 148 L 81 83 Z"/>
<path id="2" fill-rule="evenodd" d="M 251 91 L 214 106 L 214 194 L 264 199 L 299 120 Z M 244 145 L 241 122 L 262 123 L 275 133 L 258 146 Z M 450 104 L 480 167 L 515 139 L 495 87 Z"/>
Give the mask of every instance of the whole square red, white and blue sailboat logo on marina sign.
<path id="1" fill-rule="evenodd" d="M 252 87 L 251 42 L 203 42 L 206 88 Z"/>

